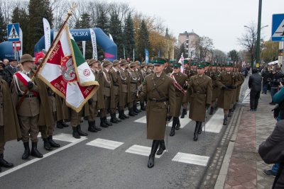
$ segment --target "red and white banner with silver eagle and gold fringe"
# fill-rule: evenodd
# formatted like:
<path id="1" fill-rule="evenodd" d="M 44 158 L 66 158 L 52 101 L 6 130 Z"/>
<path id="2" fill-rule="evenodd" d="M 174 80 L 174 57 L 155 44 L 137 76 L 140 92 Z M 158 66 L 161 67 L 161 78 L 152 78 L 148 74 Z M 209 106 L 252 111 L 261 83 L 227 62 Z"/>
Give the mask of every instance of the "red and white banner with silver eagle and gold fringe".
<path id="1" fill-rule="evenodd" d="M 58 33 L 38 77 L 79 112 L 99 88 L 67 25 Z"/>

